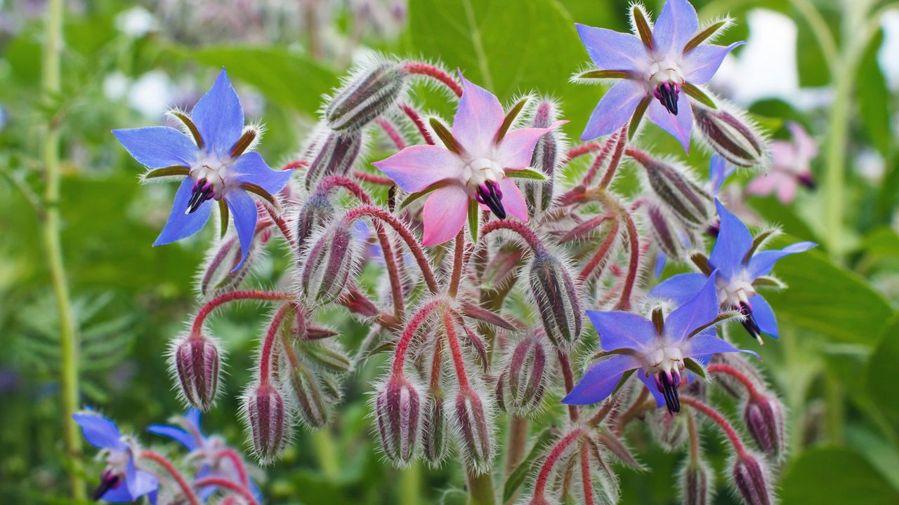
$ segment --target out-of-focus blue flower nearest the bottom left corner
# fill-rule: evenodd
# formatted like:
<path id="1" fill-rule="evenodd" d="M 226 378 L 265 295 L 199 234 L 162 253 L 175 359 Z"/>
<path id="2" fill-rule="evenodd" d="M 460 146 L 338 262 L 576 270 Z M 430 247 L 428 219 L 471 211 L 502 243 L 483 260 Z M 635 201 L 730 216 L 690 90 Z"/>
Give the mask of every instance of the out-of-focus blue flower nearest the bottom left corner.
<path id="1" fill-rule="evenodd" d="M 119 427 L 94 412 L 76 413 L 72 419 L 81 427 L 85 440 L 106 453 L 106 469 L 93 492 L 93 500 L 128 503 L 147 495 L 151 503 L 156 503 L 159 481 L 154 474 L 135 467 L 134 447 L 121 436 Z"/>

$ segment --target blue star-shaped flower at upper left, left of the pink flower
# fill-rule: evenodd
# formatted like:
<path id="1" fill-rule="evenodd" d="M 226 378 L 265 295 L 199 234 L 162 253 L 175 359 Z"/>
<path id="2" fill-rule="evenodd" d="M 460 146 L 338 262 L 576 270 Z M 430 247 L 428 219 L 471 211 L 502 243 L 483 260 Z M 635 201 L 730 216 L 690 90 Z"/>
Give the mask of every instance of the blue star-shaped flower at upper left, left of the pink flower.
<path id="1" fill-rule="evenodd" d="M 180 111 L 172 116 L 184 123 L 190 137 L 169 127 L 112 131 L 134 159 L 151 169 L 145 179 L 183 176 L 172 212 L 153 244 L 171 244 L 200 231 L 215 199 L 223 223 L 227 223 L 228 208 L 234 215 L 241 247 L 237 270 L 256 229 L 256 203 L 249 193 L 273 202 L 271 195 L 287 185 L 290 171 L 271 170 L 263 156 L 250 151 L 259 129 L 244 127 L 244 109 L 224 69 L 190 116 Z"/>

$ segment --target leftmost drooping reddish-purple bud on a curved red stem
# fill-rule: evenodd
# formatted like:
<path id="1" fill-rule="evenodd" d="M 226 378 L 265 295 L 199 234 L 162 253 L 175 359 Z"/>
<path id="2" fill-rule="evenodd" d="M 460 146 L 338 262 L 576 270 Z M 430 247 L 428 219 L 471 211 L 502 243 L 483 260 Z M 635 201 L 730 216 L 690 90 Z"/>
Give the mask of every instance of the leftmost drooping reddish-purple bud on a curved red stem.
<path id="1" fill-rule="evenodd" d="M 204 335 L 187 336 L 174 342 L 174 371 L 184 399 L 203 412 L 218 394 L 218 342 Z"/>

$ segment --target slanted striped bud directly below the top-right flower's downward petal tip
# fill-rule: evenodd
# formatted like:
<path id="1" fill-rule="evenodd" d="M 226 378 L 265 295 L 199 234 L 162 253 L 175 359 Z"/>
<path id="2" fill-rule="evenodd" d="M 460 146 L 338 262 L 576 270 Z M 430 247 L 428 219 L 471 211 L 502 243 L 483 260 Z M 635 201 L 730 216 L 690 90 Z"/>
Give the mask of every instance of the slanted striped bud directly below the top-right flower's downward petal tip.
<path id="1" fill-rule="evenodd" d="M 649 187 L 674 216 L 694 228 L 708 225 L 712 218 L 712 197 L 690 178 L 684 167 L 644 153 L 634 153 L 632 157 L 643 165 Z"/>

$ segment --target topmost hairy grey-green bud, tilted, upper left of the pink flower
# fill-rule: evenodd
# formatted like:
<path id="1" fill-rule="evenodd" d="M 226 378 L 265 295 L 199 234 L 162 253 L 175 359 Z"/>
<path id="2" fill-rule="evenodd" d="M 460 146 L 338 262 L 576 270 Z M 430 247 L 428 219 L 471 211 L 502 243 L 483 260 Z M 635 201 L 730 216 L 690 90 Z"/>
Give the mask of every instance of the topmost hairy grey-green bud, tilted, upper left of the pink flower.
<path id="1" fill-rule="evenodd" d="M 382 62 L 349 79 L 325 110 L 325 122 L 337 131 L 355 131 L 383 114 L 403 93 L 405 74 L 395 63 Z"/>

